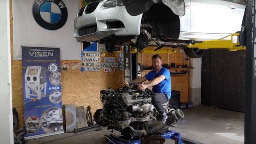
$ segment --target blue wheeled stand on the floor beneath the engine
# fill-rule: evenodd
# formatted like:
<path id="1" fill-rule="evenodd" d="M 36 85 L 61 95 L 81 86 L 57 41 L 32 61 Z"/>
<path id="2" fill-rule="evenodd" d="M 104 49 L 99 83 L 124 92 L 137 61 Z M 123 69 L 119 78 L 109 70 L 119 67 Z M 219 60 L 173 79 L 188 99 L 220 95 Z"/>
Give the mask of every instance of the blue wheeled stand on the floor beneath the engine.
<path id="1" fill-rule="evenodd" d="M 181 134 L 174 131 L 166 131 L 166 133 L 160 136 L 149 136 L 142 142 L 140 140 L 125 140 L 122 136 L 115 136 L 114 134 L 105 135 L 109 144 L 149 144 L 152 141 L 158 141 L 157 143 L 163 144 L 167 139 L 175 140 L 175 144 L 182 144 Z M 155 142 L 153 142 L 155 144 Z"/>

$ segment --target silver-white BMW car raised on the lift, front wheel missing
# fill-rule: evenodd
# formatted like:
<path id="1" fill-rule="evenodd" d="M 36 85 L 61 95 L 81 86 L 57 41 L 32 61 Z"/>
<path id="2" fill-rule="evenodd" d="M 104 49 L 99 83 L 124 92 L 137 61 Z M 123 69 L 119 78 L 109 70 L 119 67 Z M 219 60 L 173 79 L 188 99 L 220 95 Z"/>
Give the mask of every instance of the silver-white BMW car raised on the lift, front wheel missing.
<path id="1" fill-rule="evenodd" d="M 110 51 L 131 39 L 140 50 L 153 42 L 179 46 L 219 39 L 241 30 L 245 5 L 245 0 L 100 0 L 77 12 L 74 36 L 100 40 Z M 199 58 L 204 50 L 185 52 Z"/>

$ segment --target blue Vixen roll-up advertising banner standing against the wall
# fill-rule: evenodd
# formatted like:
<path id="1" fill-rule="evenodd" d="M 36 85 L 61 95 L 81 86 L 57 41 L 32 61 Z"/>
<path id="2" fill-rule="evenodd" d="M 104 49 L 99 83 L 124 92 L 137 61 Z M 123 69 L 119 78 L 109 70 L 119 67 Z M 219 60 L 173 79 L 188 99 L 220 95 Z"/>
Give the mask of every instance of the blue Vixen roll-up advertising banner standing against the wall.
<path id="1" fill-rule="evenodd" d="M 64 133 L 60 48 L 22 46 L 25 139 Z"/>

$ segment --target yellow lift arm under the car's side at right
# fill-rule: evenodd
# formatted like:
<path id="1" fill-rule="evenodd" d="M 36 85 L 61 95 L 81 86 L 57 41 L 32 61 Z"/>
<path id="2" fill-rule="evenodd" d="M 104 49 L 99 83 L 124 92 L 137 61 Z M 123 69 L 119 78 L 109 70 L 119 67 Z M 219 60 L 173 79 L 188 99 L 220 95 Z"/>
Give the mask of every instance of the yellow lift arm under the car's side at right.
<path id="1" fill-rule="evenodd" d="M 224 40 L 231 36 L 231 40 Z M 237 42 L 233 43 L 233 36 L 237 36 Z M 245 50 L 246 46 L 241 46 L 239 44 L 240 33 L 233 33 L 231 35 L 225 36 L 218 40 L 206 40 L 204 42 L 196 42 L 194 44 L 187 45 L 187 48 L 199 48 L 199 49 L 210 49 L 210 48 L 227 48 L 230 51 L 235 50 Z"/>

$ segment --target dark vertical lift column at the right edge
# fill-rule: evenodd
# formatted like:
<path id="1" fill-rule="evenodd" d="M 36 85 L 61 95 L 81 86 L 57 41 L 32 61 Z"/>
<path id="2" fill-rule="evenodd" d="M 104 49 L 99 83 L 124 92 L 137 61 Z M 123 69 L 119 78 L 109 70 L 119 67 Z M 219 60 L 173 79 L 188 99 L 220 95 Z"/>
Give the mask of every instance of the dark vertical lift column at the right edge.
<path id="1" fill-rule="evenodd" d="M 256 144 L 256 0 L 247 0 L 244 144 Z M 253 20 L 254 19 L 254 20 Z"/>

